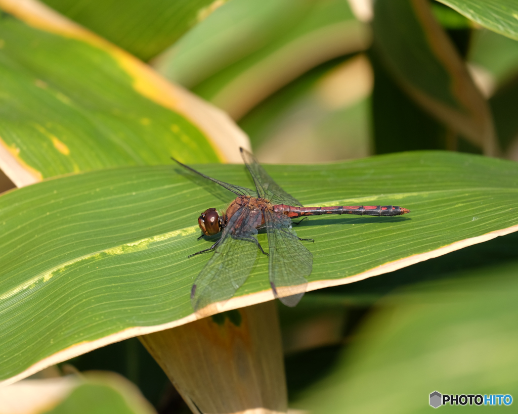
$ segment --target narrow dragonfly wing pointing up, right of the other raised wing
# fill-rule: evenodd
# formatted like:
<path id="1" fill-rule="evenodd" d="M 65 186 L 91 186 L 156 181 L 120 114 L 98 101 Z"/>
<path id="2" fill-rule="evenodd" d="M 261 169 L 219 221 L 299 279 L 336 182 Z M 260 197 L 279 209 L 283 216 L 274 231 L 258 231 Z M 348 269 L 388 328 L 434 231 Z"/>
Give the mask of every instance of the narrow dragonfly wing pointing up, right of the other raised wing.
<path id="1" fill-rule="evenodd" d="M 240 148 L 240 150 L 244 164 L 252 175 L 257 194 L 260 197 L 267 198 L 272 204 L 302 205 L 300 201 L 286 193 L 286 191 L 268 175 L 252 154 L 243 148 Z"/>

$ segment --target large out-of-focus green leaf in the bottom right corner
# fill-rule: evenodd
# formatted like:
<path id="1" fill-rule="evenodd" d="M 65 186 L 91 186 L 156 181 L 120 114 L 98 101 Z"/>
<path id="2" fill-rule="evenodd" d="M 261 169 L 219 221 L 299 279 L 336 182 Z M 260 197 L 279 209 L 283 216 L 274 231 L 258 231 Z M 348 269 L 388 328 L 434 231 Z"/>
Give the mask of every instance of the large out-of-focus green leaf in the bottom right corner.
<path id="1" fill-rule="evenodd" d="M 447 273 L 387 296 L 330 372 L 291 405 L 315 413 L 399 414 L 429 412 L 436 390 L 514 397 L 517 271 L 514 261 Z"/>

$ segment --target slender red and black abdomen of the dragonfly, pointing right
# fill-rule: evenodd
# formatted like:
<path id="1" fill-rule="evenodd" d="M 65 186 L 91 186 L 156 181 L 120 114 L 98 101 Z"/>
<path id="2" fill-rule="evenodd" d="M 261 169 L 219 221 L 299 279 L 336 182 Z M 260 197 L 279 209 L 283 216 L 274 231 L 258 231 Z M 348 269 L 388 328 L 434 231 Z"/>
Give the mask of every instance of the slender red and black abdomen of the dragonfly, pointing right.
<path id="1" fill-rule="evenodd" d="M 397 205 L 337 205 L 332 207 L 296 207 L 294 205 L 277 204 L 272 207 L 276 213 L 291 218 L 304 216 L 320 216 L 322 214 L 355 214 L 358 216 L 400 216 L 410 210 Z"/>

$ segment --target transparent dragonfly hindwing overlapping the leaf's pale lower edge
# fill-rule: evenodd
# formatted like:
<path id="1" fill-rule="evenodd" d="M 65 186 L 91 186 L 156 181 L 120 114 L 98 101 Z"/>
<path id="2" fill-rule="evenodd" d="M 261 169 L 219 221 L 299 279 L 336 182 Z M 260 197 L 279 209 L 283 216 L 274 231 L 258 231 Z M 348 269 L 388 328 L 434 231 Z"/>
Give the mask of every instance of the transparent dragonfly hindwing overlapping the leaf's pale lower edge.
<path id="1" fill-rule="evenodd" d="M 272 210 L 264 212 L 270 254 L 268 273 L 277 298 L 295 306 L 306 292 L 313 255 L 297 238 L 291 219 Z"/>

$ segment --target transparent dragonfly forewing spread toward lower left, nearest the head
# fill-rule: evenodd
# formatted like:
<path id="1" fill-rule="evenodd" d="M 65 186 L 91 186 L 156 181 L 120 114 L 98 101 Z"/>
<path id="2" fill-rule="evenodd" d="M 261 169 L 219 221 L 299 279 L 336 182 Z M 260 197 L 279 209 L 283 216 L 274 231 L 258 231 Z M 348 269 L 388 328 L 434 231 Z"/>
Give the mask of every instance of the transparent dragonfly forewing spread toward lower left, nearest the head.
<path id="1" fill-rule="evenodd" d="M 253 211 L 245 206 L 229 220 L 214 255 L 199 273 L 191 290 L 195 311 L 226 301 L 247 280 L 257 257 Z M 261 214 L 260 211 L 257 211 Z"/>

